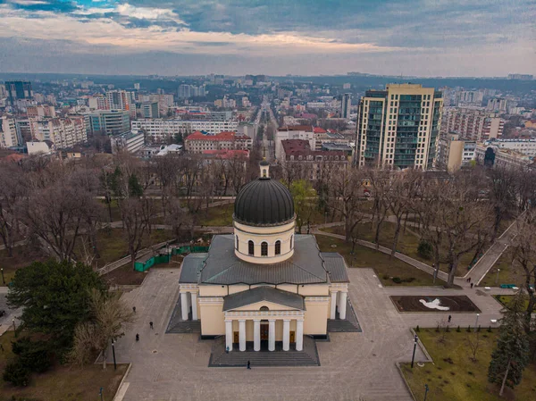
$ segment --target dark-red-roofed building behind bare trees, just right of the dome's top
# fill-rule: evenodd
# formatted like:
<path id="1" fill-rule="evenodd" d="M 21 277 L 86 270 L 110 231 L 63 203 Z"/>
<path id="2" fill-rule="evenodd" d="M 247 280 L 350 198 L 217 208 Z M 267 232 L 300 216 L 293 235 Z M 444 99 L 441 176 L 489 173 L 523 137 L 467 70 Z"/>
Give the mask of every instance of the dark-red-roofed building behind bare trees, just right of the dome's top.
<path id="1" fill-rule="evenodd" d="M 345 150 L 314 150 L 304 139 L 281 141 L 281 165 L 293 169 L 301 179 L 317 180 L 325 163 L 346 169 L 348 160 L 350 157 Z"/>

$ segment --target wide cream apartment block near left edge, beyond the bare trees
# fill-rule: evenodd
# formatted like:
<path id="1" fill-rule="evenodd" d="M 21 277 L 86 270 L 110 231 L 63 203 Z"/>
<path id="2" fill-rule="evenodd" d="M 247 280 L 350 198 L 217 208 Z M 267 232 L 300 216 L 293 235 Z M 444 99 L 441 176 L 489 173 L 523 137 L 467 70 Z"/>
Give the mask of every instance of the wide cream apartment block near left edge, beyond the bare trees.
<path id="1" fill-rule="evenodd" d="M 88 141 L 83 117 L 30 120 L 31 137 L 65 149 Z"/>

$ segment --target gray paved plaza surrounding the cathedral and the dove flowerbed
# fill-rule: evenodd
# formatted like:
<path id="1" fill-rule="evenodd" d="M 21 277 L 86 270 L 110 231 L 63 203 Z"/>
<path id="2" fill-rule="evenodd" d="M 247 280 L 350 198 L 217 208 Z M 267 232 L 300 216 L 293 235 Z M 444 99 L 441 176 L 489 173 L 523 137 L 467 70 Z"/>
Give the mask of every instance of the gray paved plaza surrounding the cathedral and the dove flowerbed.
<path id="1" fill-rule="evenodd" d="M 433 327 L 446 313 L 398 313 L 390 295 L 467 295 L 481 310 L 482 326 L 499 317 L 500 305 L 474 288 L 383 288 L 372 269 L 348 269 L 349 297 L 363 332 L 331 333 L 317 342 L 321 366 L 209 368 L 213 340 L 198 334 L 165 334 L 179 297 L 180 269 L 153 269 L 144 284 L 123 298 L 136 306 L 138 321 L 116 347 L 132 363 L 125 401 L 137 400 L 367 400 L 409 401 L 396 362 L 409 362 L 410 328 Z M 447 313 L 448 315 L 448 313 Z M 475 313 L 454 313 L 452 325 L 473 325 Z M 155 330 L 150 330 L 154 322 Z M 135 341 L 136 333 L 140 340 Z M 425 356 L 418 348 L 417 361 Z M 128 384 L 127 384 L 128 383 Z"/>

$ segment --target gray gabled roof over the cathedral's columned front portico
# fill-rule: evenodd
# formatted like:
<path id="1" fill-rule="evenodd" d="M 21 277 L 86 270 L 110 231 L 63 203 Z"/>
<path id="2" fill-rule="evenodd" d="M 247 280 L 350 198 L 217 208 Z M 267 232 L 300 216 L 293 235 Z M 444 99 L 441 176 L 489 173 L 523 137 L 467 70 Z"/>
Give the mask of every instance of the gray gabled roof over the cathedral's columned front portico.
<path id="1" fill-rule="evenodd" d="M 293 292 L 283 291 L 272 287 L 257 287 L 223 298 L 223 310 L 230 311 L 241 306 L 252 305 L 257 302 L 267 301 L 273 304 L 285 305 L 302 311 L 306 310 L 304 297 Z"/>

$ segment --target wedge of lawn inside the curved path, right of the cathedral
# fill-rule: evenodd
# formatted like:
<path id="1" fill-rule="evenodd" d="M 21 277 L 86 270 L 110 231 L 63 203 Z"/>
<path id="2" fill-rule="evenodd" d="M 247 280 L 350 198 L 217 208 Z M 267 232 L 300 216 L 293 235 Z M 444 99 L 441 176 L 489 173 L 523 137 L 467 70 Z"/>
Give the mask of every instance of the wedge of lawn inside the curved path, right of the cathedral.
<path id="1" fill-rule="evenodd" d="M 422 272 L 397 258 L 390 259 L 389 255 L 382 254 L 380 251 L 356 245 L 355 255 L 351 255 L 352 244 L 342 239 L 317 235 L 316 241 L 322 252 L 338 252 L 343 255 L 349 267 L 372 267 L 384 286 L 434 285 L 430 274 Z M 333 245 L 335 247 L 332 247 Z M 392 280 L 393 277 L 398 277 L 403 282 L 397 284 Z M 444 281 L 438 279 L 435 285 L 444 284 Z"/>

